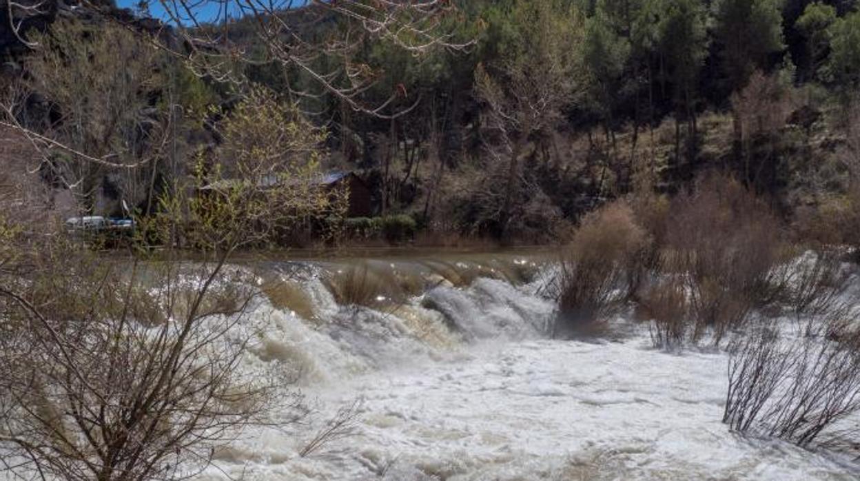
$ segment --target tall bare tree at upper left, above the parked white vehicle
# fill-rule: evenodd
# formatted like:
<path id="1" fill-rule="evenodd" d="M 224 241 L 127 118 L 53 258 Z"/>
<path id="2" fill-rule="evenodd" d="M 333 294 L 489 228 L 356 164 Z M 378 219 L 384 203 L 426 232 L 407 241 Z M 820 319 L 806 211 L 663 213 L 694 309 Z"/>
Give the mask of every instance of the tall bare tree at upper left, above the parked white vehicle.
<path id="1" fill-rule="evenodd" d="M 61 20 L 29 38 L 40 48 L 28 58 L 28 89 L 3 103 L 0 125 L 41 152 L 28 169 L 46 173 L 92 213 L 105 175 L 143 171 L 163 151 L 168 118 L 147 97 L 157 88 L 159 54 L 112 25 Z M 28 97 L 43 103 L 40 118 L 26 118 Z"/>

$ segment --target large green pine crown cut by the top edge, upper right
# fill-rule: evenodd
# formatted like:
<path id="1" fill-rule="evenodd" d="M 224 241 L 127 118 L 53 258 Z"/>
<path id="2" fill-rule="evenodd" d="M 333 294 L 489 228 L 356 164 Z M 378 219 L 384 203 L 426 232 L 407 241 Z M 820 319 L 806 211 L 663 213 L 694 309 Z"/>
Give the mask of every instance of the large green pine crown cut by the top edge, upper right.
<path id="1" fill-rule="evenodd" d="M 730 89 L 740 89 L 771 53 L 783 49 L 779 0 L 716 0 L 714 36 Z"/>

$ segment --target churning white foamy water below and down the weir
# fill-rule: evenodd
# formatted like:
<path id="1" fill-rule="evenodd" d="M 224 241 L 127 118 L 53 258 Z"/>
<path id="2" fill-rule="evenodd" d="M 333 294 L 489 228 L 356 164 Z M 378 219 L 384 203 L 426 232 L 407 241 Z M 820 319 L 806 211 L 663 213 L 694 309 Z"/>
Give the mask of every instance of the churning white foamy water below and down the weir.
<path id="1" fill-rule="evenodd" d="M 539 286 L 437 283 L 405 305 L 337 305 L 304 282 L 316 319 L 264 304 L 247 367 L 282 361 L 315 412 L 218 453 L 207 479 L 855 479 L 847 460 L 722 424 L 727 359 L 617 341 L 552 341 Z M 349 435 L 300 457 L 359 400 Z"/>

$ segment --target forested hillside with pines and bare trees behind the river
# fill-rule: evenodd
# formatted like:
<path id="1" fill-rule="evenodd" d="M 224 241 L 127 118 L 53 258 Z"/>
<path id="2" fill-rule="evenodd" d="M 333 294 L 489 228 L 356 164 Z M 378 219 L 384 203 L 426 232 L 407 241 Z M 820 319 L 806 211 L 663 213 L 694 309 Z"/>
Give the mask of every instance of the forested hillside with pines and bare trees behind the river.
<path id="1" fill-rule="evenodd" d="M 146 215 L 195 166 L 236 176 L 253 147 L 223 122 L 261 89 L 397 238 L 551 242 L 606 200 L 673 195 L 707 170 L 801 230 L 856 210 L 854 1 L 460 0 L 387 21 L 361 4 L 3 9 L 3 126 L 36 140 L 69 212 Z M 234 140 L 270 139 L 255 127 Z"/>

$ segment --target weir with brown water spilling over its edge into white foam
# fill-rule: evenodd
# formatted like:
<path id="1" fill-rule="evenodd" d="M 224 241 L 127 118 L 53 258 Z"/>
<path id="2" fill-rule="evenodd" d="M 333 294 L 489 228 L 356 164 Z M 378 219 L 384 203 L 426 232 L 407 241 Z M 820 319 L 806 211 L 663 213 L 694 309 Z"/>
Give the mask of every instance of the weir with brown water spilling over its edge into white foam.
<path id="1" fill-rule="evenodd" d="M 298 363 L 303 382 L 316 382 L 539 338 L 554 310 L 541 294 L 550 268 L 546 255 L 519 254 L 261 262 L 256 313 L 273 329 L 256 355 Z"/>

